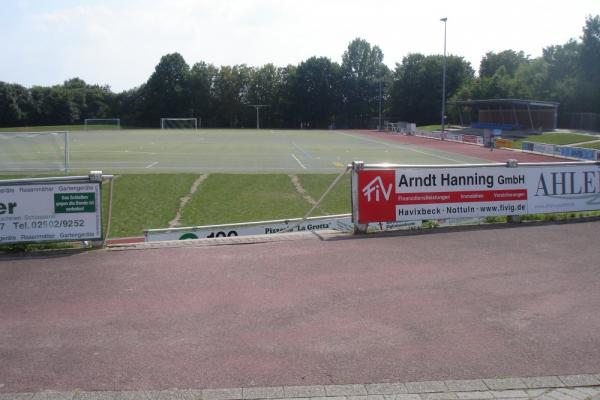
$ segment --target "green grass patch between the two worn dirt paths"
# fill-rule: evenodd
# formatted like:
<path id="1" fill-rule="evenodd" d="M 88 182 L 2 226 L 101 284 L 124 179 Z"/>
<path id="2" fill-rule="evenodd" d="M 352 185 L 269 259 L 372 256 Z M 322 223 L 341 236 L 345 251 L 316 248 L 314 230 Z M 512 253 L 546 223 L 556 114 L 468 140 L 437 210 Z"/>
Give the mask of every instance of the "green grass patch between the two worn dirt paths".
<path id="1" fill-rule="evenodd" d="M 211 174 L 184 208 L 182 226 L 301 217 L 310 208 L 283 174 Z"/>

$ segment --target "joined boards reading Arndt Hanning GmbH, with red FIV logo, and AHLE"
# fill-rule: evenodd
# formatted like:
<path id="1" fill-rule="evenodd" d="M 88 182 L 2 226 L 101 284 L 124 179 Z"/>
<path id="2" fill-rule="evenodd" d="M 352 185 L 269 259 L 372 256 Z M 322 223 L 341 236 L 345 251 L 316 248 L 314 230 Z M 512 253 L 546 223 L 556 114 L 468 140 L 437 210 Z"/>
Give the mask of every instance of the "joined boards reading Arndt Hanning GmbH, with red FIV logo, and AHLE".
<path id="1" fill-rule="evenodd" d="M 600 164 L 365 168 L 357 221 L 474 218 L 600 209 Z"/>

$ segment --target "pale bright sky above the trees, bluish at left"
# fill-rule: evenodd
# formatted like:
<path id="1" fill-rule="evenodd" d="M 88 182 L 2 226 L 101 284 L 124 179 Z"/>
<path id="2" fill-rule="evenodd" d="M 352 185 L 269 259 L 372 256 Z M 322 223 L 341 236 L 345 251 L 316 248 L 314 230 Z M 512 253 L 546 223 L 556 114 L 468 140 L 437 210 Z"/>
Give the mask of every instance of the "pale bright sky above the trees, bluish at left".
<path id="1" fill-rule="evenodd" d="M 0 0 L 0 81 L 72 77 L 114 91 L 146 81 L 160 57 L 188 64 L 278 66 L 311 56 L 340 62 L 356 37 L 394 68 L 409 53 L 447 49 L 474 69 L 488 51 L 542 49 L 579 38 L 598 0 Z"/>

